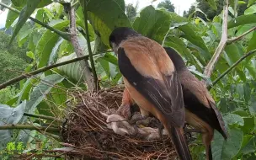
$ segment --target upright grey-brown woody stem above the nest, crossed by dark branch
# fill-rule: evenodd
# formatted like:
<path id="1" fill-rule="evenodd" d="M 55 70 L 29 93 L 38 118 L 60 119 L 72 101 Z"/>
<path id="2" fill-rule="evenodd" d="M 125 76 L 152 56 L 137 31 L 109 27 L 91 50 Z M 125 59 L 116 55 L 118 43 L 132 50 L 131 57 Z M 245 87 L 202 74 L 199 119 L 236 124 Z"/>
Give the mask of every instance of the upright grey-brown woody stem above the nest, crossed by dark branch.
<path id="1" fill-rule="evenodd" d="M 75 8 L 71 6 L 70 3 L 69 5 L 69 16 L 70 16 L 70 33 L 71 33 L 71 42 L 72 45 L 75 49 L 75 52 L 77 54 L 77 57 L 82 57 L 83 56 L 83 50 L 81 46 L 79 45 L 78 39 L 77 39 L 77 28 L 76 28 L 76 13 L 75 13 Z M 86 82 L 88 84 L 88 90 L 93 90 L 94 85 L 93 85 L 93 77 L 92 77 L 92 72 L 89 69 L 89 64 L 87 60 L 80 61 L 80 65 L 83 69 L 83 76 L 86 79 Z"/>

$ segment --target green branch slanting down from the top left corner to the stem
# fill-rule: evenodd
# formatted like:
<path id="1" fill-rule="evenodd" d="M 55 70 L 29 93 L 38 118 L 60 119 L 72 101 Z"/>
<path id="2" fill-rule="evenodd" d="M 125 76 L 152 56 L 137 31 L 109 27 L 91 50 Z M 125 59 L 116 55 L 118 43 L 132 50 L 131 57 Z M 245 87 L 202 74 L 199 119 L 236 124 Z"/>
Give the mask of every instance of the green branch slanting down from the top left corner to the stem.
<path id="1" fill-rule="evenodd" d="M 4 8 L 8 8 L 9 10 L 13 11 L 14 13 L 20 13 L 19 10 L 15 9 L 15 8 L 11 8 L 4 3 L 0 2 L 0 6 L 3 6 Z M 69 35 L 66 32 L 62 32 L 61 30 L 54 29 L 51 26 L 44 24 L 40 20 L 34 19 L 32 17 L 29 17 L 29 19 L 31 19 L 32 21 L 34 21 L 37 24 L 40 24 L 41 26 L 45 27 L 46 29 L 49 29 L 49 30 L 55 32 L 57 35 L 60 35 L 63 39 L 70 41 Z"/>

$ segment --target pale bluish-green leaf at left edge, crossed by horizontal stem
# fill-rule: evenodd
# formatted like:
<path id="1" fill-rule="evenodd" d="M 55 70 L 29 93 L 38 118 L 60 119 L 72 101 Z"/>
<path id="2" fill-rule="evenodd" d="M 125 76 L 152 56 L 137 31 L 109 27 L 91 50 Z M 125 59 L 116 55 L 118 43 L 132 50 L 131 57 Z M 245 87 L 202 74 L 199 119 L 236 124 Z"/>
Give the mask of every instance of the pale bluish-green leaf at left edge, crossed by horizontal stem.
<path id="1" fill-rule="evenodd" d="M 0 125 L 16 125 L 24 114 L 26 101 L 24 100 L 16 108 L 11 108 L 6 104 L 0 104 Z M 10 130 L 0 130 L 0 151 L 11 141 L 12 132 Z"/>

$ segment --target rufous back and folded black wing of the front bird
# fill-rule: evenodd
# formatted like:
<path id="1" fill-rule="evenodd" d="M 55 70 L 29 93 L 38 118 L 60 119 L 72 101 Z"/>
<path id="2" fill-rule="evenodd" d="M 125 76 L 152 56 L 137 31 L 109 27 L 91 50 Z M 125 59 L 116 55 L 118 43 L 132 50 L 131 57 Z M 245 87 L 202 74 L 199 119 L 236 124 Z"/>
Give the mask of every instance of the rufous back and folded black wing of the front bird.
<path id="1" fill-rule="evenodd" d="M 136 46 L 133 46 L 133 48 L 119 48 L 120 72 L 133 88 L 136 88 L 137 92 L 152 103 L 168 122 L 171 122 L 171 125 L 183 126 L 183 93 L 174 68 L 169 68 L 168 71 L 170 72 L 163 71 L 163 67 L 161 68 L 157 63 L 157 61 L 160 61 L 159 59 L 154 59 L 150 52 L 140 51 L 142 50 L 140 47 L 137 47 L 137 49 L 134 47 Z M 158 54 L 167 57 L 165 58 L 166 61 L 161 60 L 162 65 L 172 62 L 164 50 L 162 54 Z"/>

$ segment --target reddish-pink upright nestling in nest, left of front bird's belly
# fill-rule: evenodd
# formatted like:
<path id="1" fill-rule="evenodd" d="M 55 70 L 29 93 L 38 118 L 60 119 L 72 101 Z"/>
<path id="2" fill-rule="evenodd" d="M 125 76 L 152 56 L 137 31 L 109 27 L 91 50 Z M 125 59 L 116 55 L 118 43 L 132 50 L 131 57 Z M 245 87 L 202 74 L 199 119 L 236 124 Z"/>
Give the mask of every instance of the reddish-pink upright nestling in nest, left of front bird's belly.
<path id="1" fill-rule="evenodd" d="M 125 88 L 123 92 L 122 104 L 120 105 L 119 109 L 117 109 L 116 114 L 121 115 L 126 120 L 129 120 L 131 118 L 131 105 L 132 99 L 130 93 L 128 93 L 128 90 Z"/>

